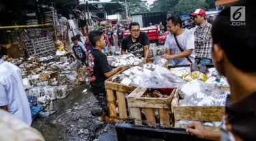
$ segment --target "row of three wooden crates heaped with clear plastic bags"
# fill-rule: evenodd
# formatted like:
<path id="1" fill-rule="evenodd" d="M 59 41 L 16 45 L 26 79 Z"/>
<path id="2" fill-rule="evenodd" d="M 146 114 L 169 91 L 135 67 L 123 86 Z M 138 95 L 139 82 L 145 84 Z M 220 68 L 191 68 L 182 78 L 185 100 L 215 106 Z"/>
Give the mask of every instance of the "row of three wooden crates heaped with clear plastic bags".
<path id="1" fill-rule="evenodd" d="M 160 57 L 160 56 L 159 56 Z M 158 60 L 155 56 L 154 62 Z M 157 65 L 158 64 L 158 65 Z M 213 66 L 167 69 L 161 61 L 125 68 L 105 81 L 109 113 L 113 121 L 133 120 L 135 125 L 186 128 L 200 121 L 218 131 L 226 99 L 227 79 Z"/>

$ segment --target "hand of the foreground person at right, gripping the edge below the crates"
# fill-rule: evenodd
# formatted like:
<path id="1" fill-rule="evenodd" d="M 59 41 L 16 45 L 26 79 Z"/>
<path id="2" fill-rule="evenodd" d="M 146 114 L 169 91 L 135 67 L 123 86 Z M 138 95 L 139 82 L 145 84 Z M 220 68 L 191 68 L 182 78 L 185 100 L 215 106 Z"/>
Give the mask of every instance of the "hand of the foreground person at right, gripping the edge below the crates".
<path id="1" fill-rule="evenodd" d="M 201 125 L 201 123 L 194 122 L 188 125 L 186 132 L 192 136 L 197 136 L 198 138 L 205 139 L 210 131 L 206 127 Z"/>

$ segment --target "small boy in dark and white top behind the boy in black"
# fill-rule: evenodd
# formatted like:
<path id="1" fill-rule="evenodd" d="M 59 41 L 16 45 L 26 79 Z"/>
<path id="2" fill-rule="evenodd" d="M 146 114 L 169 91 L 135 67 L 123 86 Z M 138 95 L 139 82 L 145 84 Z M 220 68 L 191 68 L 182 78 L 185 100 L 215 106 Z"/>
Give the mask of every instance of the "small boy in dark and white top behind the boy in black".
<path id="1" fill-rule="evenodd" d="M 81 67 L 83 65 L 86 65 L 87 60 L 87 50 L 85 49 L 85 45 L 77 39 L 76 36 L 71 38 L 73 43 L 71 44 L 72 51 L 74 52 L 74 56 L 76 58 L 76 65 L 77 65 L 77 74 L 78 74 L 78 80 L 81 81 L 80 73 L 81 73 Z"/>

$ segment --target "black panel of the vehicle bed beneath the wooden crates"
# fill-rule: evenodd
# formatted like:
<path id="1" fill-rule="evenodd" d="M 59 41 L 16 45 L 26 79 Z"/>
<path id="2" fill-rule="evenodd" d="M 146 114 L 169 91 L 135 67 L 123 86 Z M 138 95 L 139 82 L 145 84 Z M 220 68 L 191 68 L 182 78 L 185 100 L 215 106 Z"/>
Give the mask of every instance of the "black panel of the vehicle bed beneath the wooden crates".
<path id="1" fill-rule="evenodd" d="M 119 121 L 115 125 L 119 141 L 167 141 L 167 140 L 202 140 L 186 134 L 186 129 L 173 127 L 149 127 Z"/>

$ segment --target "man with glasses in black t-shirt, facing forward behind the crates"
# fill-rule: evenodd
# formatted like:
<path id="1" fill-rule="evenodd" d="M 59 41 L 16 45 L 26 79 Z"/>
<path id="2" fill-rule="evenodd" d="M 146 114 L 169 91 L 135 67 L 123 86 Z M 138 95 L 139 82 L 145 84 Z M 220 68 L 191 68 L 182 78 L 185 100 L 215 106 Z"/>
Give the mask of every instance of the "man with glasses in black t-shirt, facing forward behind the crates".
<path id="1" fill-rule="evenodd" d="M 150 53 L 150 40 L 147 34 L 140 31 L 139 23 L 132 22 L 129 26 L 130 35 L 123 39 L 121 54 L 126 54 L 126 50 L 138 58 L 144 57 L 147 60 Z"/>

